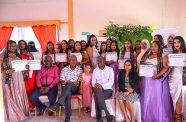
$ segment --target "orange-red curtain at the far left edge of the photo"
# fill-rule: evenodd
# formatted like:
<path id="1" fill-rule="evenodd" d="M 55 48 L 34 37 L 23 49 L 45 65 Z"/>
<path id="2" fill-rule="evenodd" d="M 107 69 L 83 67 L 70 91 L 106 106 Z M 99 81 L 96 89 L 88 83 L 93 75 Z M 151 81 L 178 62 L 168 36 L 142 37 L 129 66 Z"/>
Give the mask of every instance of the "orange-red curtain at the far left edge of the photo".
<path id="1" fill-rule="evenodd" d="M 0 51 L 6 47 L 12 31 L 13 27 L 0 27 Z"/>

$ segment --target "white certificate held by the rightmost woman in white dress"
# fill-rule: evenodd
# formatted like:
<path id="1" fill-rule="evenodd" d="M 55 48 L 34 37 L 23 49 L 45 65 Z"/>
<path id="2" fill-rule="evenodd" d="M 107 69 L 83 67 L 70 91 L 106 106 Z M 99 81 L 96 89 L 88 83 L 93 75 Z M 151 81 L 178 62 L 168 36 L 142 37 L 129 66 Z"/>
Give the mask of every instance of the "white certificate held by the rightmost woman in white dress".
<path id="1" fill-rule="evenodd" d="M 169 54 L 169 66 L 185 66 L 185 53 Z"/>

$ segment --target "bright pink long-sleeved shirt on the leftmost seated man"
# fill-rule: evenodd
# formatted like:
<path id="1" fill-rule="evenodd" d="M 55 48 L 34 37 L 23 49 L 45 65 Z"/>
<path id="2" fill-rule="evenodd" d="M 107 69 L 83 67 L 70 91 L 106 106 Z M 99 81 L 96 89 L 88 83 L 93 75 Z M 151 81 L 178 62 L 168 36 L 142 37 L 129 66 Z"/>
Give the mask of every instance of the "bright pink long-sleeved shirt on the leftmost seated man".
<path id="1" fill-rule="evenodd" d="M 47 68 L 41 67 L 41 70 L 36 74 L 36 85 L 37 87 L 49 86 L 52 88 L 59 82 L 59 69 L 56 65 L 52 65 Z"/>

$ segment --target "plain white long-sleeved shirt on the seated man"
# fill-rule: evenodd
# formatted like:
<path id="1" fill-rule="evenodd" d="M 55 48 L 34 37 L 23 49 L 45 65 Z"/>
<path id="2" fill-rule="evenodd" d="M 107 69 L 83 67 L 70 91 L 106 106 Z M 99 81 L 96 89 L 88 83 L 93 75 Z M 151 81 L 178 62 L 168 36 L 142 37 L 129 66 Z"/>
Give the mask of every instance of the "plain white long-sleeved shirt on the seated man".
<path id="1" fill-rule="evenodd" d="M 103 89 L 112 89 L 114 84 L 114 71 L 111 67 L 105 66 L 102 70 L 99 67 L 94 69 L 92 75 L 92 86 L 99 83 L 102 85 Z"/>

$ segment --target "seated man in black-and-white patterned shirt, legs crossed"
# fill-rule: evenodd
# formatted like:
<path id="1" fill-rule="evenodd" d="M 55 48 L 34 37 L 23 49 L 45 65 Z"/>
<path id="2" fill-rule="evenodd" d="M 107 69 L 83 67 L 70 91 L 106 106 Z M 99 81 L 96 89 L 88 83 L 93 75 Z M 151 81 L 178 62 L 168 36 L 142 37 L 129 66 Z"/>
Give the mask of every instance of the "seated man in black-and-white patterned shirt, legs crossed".
<path id="1" fill-rule="evenodd" d="M 63 89 L 58 101 L 50 108 L 51 111 L 57 111 L 59 105 L 65 106 L 65 122 L 70 121 L 71 116 L 71 96 L 77 94 L 80 85 L 80 77 L 82 74 L 81 67 L 77 66 L 77 58 L 72 55 L 69 57 L 69 66 L 62 69 L 60 74 L 60 82 Z"/>

